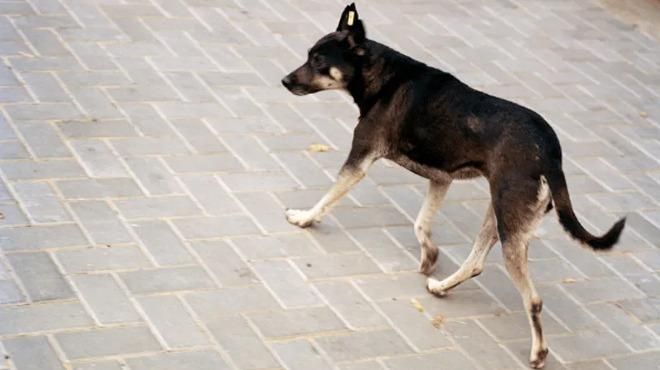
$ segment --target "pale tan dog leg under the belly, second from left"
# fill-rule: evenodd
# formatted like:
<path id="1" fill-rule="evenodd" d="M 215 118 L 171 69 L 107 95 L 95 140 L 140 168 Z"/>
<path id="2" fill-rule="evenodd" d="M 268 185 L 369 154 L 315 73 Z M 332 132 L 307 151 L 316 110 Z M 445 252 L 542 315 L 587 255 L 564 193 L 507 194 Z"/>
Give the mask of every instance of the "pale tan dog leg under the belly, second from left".
<path id="1" fill-rule="evenodd" d="M 421 246 L 419 271 L 425 275 L 433 272 L 433 266 L 438 259 L 438 247 L 431 241 L 431 222 L 433 216 L 442 205 L 442 200 L 449 190 L 451 180 L 429 182 L 429 189 L 424 198 L 424 204 L 415 220 L 415 236 Z"/>

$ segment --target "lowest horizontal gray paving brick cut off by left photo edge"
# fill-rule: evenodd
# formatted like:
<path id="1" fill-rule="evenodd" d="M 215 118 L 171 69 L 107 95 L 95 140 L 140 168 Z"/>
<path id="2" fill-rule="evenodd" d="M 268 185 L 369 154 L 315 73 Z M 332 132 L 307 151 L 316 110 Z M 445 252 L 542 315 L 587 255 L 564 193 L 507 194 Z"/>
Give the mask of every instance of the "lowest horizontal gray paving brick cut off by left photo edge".
<path id="1" fill-rule="evenodd" d="M 53 320 L 57 317 L 57 320 Z M 27 334 L 92 325 L 79 302 L 0 307 L 0 334 Z"/>

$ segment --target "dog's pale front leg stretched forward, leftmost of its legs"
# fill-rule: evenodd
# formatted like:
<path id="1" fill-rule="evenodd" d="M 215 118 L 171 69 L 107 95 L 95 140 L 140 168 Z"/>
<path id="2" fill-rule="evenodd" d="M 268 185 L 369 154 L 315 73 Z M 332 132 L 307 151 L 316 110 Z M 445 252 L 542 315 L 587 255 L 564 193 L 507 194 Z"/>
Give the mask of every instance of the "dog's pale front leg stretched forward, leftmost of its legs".
<path id="1" fill-rule="evenodd" d="M 320 221 L 321 217 L 328 213 L 341 197 L 360 182 L 367 174 L 369 166 L 376 160 L 376 157 L 371 153 L 359 155 L 357 152 L 351 150 L 348 160 L 339 171 L 337 181 L 314 207 L 307 210 L 287 209 L 287 221 L 300 227 L 308 227 L 314 222 Z"/>

